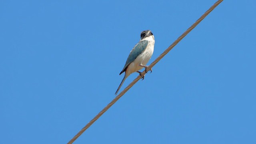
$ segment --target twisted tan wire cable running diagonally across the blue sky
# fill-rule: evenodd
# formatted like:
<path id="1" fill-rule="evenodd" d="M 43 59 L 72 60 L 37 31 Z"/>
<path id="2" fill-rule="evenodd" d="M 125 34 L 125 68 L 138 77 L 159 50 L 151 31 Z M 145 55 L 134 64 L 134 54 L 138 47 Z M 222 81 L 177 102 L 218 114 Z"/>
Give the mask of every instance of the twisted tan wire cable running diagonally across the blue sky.
<path id="1" fill-rule="evenodd" d="M 160 56 L 158 56 L 158 58 L 156 58 L 156 60 L 154 60 L 154 62 L 152 62 L 147 70 L 150 70 L 157 62 L 159 62 L 168 52 L 170 52 L 170 50 L 172 50 L 172 48 L 174 46 L 176 46 L 176 44 L 178 44 L 178 42 L 180 42 L 180 40 L 182 40 L 182 38 L 184 38 L 193 28 L 195 28 L 212 10 L 214 10 L 214 8 L 216 8 L 216 6 L 218 6 L 223 0 L 218 0 L 214 5 L 212 5 L 194 24 L 192 24 L 192 26 L 190 26 L 190 28 L 188 28 L 177 40 L 175 40 Z M 142 72 L 142 76 L 146 74 L 145 71 Z M 82 130 L 80 130 L 76 136 L 74 136 L 69 142 L 68 144 L 72 144 L 87 128 L 89 128 L 96 120 L 98 120 L 98 118 L 100 118 L 100 116 L 102 114 L 104 114 L 104 112 L 106 112 L 119 98 L 121 98 L 121 96 L 123 96 L 136 82 L 138 82 L 138 80 L 140 80 L 141 76 L 138 76 L 137 78 L 135 78 L 122 92 L 120 92 L 120 94 L 118 94 L 118 96 L 116 96 L 116 98 L 114 98 L 105 108 L 103 108 L 102 111 L 100 111 L 100 113 L 98 113 L 88 124 L 86 124 L 86 126 L 84 126 L 84 128 L 82 128 Z"/>

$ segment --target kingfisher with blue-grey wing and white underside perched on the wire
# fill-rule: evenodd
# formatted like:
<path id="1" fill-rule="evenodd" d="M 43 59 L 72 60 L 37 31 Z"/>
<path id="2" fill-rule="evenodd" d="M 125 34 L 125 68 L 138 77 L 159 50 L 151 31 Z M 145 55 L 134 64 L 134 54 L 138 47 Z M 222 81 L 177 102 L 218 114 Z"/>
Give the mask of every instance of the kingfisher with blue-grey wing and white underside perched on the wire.
<path id="1" fill-rule="evenodd" d="M 147 73 L 148 66 L 146 66 L 146 64 L 154 52 L 154 44 L 155 38 L 150 30 L 144 30 L 140 33 L 140 41 L 132 48 L 126 63 L 124 64 L 124 68 L 119 74 L 121 75 L 123 72 L 125 72 L 124 78 L 122 79 L 121 84 L 118 86 L 115 94 L 118 93 L 119 89 L 124 83 L 124 80 L 126 80 L 126 78 L 133 72 L 138 72 L 140 76 L 142 76 L 142 72 L 139 70 L 145 68 L 145 72 Z M 152 69 L 149 71 L 151 73 Z M 142 76 L 142 80 L 144 79 L 144 76 Z"/>

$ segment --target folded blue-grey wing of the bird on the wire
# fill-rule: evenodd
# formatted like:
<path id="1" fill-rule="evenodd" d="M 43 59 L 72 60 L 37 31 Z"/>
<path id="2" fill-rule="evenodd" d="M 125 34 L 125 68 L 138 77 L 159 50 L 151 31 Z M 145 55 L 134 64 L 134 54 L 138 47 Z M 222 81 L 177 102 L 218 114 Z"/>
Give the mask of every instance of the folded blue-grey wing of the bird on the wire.
<path id="1" fill-rule="evenodd" d="M 125 72 L 126 68 L 129 66 L 129 64 L 131 62 L 133 62 L 148 46 L 148 40 L 142 40 L 140 42 L 138 42 L 138 44 L 136 44 L 134 46 L 134 48 L 132 48 L 132 51 L 130 52 L 126 63 L 124 65 L 123 70 L 120 72 L 120 74 L 122 74 L 123 72 Z"/>

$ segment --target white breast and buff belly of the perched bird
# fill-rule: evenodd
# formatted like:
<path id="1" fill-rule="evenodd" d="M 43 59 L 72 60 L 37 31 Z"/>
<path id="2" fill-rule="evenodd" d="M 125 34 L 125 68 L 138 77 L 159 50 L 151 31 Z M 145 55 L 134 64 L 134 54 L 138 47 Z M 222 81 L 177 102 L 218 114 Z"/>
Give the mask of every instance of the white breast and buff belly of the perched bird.
<path id="1" fill-rule="evenodd" d="M 143 40 L 148 40 L 148 46 L 146 47 L 146 49 L 144 50 L 144 52 L 142 52 L 135 60 L 134 62 L 132 62 L 126 72 L 129 73 L 129 75 L 133 72 L 136 72 L 138 70 L 141 70 L 143 67 L 139 66 L 139 64 L 142 65 L 146 65 L 148 63 L 148 61 L 150 60 L 153 52 L 154 52 L 154 44 L 155 44 L 155 40 L 154 40 L 154 36 L 148 36 L 146 38 L 144 38 Z"/>

